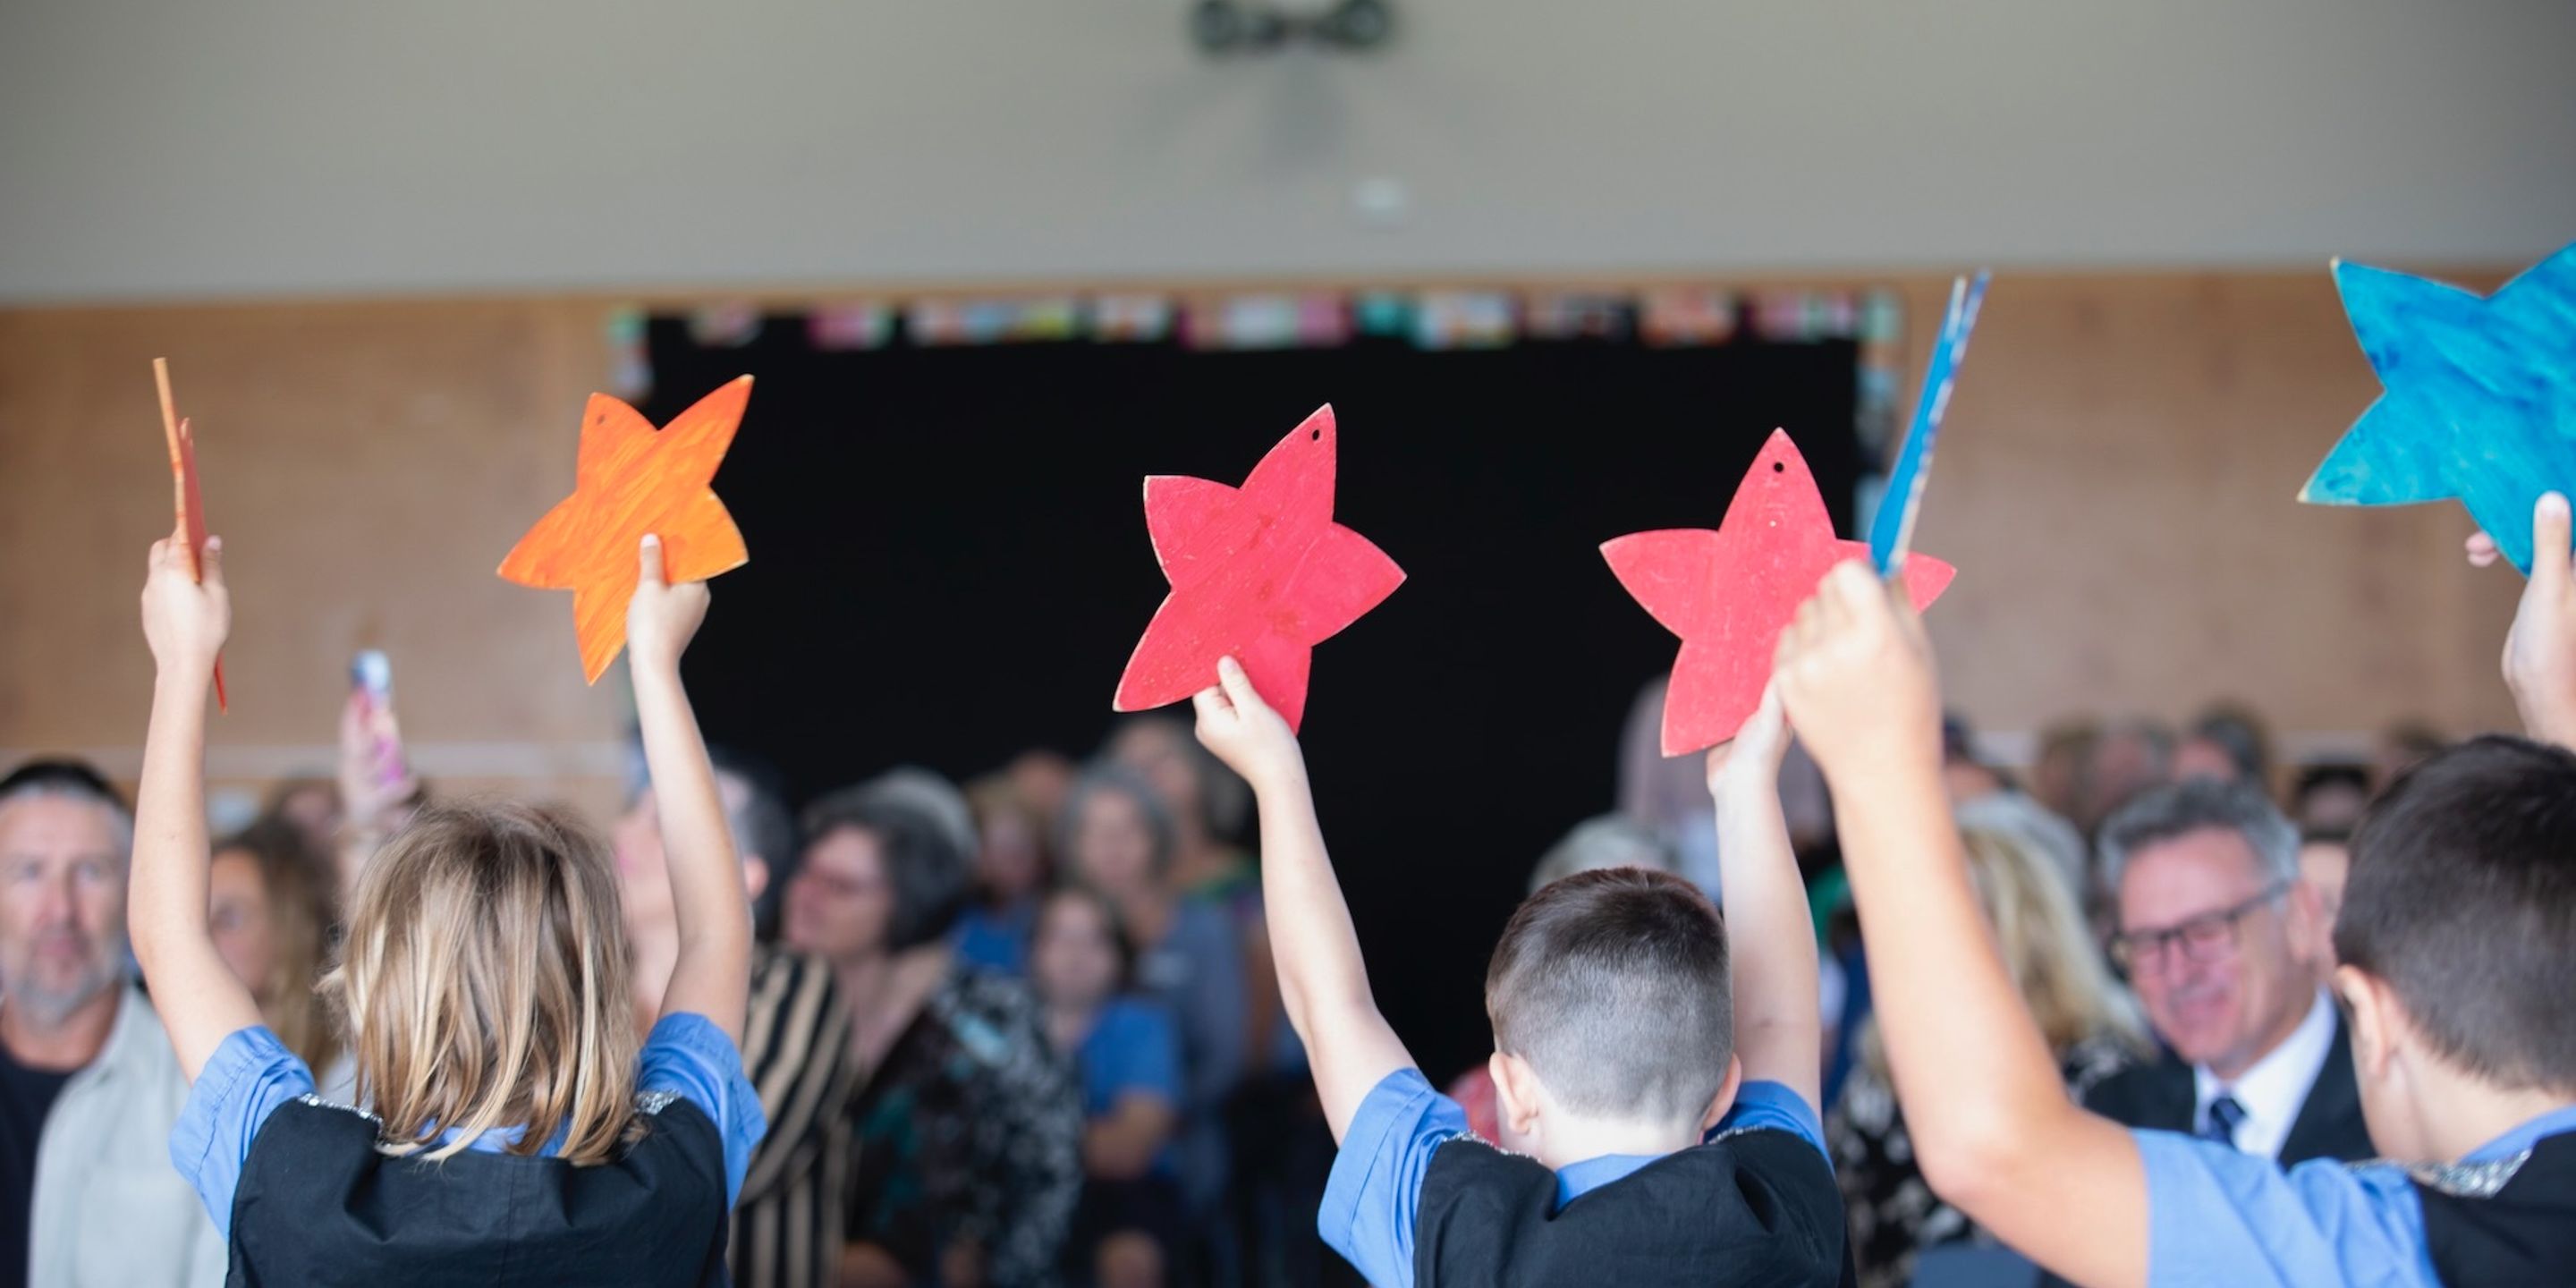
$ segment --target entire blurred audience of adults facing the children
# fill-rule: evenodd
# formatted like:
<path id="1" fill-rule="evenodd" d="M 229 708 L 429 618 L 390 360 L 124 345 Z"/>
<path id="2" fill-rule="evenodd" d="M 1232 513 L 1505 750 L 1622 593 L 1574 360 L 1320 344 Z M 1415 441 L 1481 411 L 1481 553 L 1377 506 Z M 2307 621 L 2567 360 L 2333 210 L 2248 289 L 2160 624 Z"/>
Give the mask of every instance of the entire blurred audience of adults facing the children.
<path id="1" fill-rule="evenodd" d="M 2020 775 L 1965 724 L 1947 742 L 1976 894 L 2071 1097 L 2282 1164 L 2370 1154 L 2321 992 L 2329 927 L 2344 837 L 2437 739 L 2398 729 L 2372 765 L 2282 773 L 2254 716 L 2215 708 L 2179 734 L 2048 729 Z M 340 894 L 425 796 L 366 762 L 376 744 L 343 729 L 337 781 L 281 786 L 211 866 L 224 963 L 332 1100 L 361 1095 L 314 987 Z M 1631 778 L 1659 778 L 1623 783 L 1628 809 L 1577 827 L 1533 886 L 1600 866 L 1713 876 L 1667 770 L 1631 755 Z M 757 762 L 719 755 L 719 791 L 762 925 L 742 1046 L 770 1121 L 734 1216 L 734 1283 L 1334 1275 L 1311 1236 L 1329 1136 L 1280 1023 L 1255 858 L 1234 842 L 1249 799 L 1182 721 L 1131 719 L 1090 762 L 1025 752 L 963 791 L 894 770 L 801 819 Z M 1829 811 L 1801 814 L 1826 948 L 1826 1133 L 1860 1283 L 1935 1283 L 1986 1236 L 1914 1167 Z M 649 1018 L 677 951 L 649 783 L 608 832 Z M 0 1265 L 28 1283 L 224 1273 L 167 1159 L 185 1082 L 131 981 L 129 848 L 124 799 L 82 765 L 0 783 Z M 1479 1074 L 1455 1095 L 1512 1144 Z"/>

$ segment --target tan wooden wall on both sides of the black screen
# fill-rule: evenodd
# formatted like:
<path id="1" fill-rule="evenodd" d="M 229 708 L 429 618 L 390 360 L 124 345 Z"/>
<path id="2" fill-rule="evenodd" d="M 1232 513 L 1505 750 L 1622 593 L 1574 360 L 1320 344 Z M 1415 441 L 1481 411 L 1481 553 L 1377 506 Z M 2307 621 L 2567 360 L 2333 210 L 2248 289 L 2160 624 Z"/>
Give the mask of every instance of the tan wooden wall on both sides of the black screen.
<path id="1" fill-rule="evenodd" d="M 1896 281 L 1919 348 L 1947 281 Z M 618 677 L 582 688 L 567 598 L 492 577 L 569 487 L 603 307 L 0 312 L 0 757 L 131 773 L 167 355 L 234 562 L 216 773 L 319 768 L 350 649 L 384 647 L 430 773 L 613 804 Z M 1960 564 L 1935 613 L 1958 706 L 2007 752 L 2069 711 L 2223 696 L 2308 750 L 2401 716 L 2509 724 L 2494 657 L 2519 582 L 2460 562 L 2465 515 L 2293 502 L 2372 397 L 2324 270 L 2002 278 L 1919 533 Z"/>

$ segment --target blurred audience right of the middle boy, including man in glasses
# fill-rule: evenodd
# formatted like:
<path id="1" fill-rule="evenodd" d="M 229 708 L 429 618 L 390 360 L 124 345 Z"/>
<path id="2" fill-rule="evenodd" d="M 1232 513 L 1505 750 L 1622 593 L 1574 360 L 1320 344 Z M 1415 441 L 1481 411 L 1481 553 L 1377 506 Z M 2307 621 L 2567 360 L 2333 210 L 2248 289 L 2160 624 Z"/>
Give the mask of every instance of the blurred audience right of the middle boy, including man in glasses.
<path id="1" fill-rule="evenodd" d="M 2053 726 L 2017 778 L 1953 724 L 1947 783 L 1976 894 L 2069 1095 L 2282 1167 L 2372 1157 L 2324 992 L 2344 840 L 2372 791 L 2437 747 L 2398 726 L 2375 762 L 2282 773 L 2262 721 L 2215 706 L 2182 732 Z M 1839 961 L 1860 969 L 1857 953 Z M 1860 1283 L 2038 1283 L 1922 1182 L 1865 1018 L 1868 981 L 1847 994 L 1852 1051 L 1837 1061 L 1847 1074 L 1829 1090 L 1826 1131 Z"/>

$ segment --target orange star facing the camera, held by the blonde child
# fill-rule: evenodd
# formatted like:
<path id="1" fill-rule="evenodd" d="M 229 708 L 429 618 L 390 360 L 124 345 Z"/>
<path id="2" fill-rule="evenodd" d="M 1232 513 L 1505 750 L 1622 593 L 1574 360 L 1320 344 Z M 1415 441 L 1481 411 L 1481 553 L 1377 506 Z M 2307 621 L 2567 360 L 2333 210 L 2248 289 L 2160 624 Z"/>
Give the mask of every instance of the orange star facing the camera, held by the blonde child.
<path id="1" fill-rule="evenodd" d="M 582 677 L 600 680 L 626 647 L 626 600 L 636 592 L 636 546 L 662 538 L 672 582 L 703 582 L 752 559 L 742 528 L 708 487 L 734 443 L 752 379 L 742 376 L 654 430 L 634 407 L 590 394 L 572 495 L 518 538 L 502 580 L 572 592 Z"/>

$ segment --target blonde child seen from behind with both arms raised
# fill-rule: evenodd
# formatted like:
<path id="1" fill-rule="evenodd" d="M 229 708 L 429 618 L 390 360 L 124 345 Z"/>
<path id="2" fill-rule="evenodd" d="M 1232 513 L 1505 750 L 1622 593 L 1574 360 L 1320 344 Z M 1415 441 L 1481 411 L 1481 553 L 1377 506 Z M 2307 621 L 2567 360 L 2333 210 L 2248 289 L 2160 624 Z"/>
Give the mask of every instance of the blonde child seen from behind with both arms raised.
<path id="1" fill-rule="evenodd" d="M 361 873 L 343 961 L 358 1100 L 330 1105 L 206 933 L 206 688 L 232 626 L 222 546 L 152 546 L 160 680 L 134 827 L 134 956 L 191 1079 L 170 1133 L 229 1283 L 724 1283 L 762 1133 L 742 1074 L 752 917 L 680 652 L 706 585 L 647 536 L 626 611 L 680 953 L 636 1043 L 600 837 L 505 804 L 422 811 Z"/>

